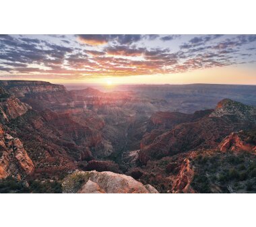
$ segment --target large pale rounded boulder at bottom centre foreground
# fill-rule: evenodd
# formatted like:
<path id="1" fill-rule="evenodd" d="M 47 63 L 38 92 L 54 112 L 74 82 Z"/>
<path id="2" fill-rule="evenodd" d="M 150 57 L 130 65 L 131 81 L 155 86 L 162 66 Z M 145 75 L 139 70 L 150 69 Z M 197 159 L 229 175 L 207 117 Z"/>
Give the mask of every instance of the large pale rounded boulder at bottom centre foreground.
<path id="1" fill-rule="evenodd" d="M 75 171 L 62 184 L 63 193 L 158 193 L 127 175 L 113 172 Z"/>

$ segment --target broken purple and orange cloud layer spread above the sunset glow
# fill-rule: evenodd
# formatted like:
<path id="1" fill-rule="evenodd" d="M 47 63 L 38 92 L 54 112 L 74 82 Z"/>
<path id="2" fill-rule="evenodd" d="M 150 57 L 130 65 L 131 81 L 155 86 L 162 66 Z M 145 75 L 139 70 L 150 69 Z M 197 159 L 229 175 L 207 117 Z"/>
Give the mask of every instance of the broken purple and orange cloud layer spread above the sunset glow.
<path id="1" fill-rule="evenodd" d="M 63 36 L 44 39 L 1 35 L 0 71 L 1 75 L 31 77 L 122 77 L 183 73 L 255 60 L 252 45 L 256 36 L 221 36 L 195 36 L 173 51 L 166 44 L 154 46 L 152 40 L 168 42 L 178 35 L 79 35 L 68 41 Z M 78 44 L 77 38 L 90 46 Z"/>

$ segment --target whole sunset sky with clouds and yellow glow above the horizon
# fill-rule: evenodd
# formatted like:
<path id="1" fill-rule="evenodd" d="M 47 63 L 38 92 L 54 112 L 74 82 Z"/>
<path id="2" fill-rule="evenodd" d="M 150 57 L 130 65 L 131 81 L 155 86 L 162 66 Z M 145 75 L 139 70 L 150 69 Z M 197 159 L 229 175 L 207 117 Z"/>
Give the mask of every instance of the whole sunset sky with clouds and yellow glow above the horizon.
<path id="1" fill-rule="evenodd" d="M 0 35 L 0 79 L 256 85 L 256 35 Z"/>

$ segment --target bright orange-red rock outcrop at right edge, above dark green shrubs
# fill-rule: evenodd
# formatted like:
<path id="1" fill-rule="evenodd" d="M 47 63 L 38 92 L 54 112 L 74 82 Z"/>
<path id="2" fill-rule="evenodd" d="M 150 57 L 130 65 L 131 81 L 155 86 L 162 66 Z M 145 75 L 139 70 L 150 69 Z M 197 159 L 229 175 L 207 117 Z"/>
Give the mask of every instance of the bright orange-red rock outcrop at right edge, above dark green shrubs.
<path id="1" fill-rule="evenodd" d="M 220 150 L 222 152 L 226 152 L 228 150 L 236 152 L 256 152 L 256 144 L 245 141 L 246 138 L 242 138 L 243 136 L 241 134 L 243 134 L 243 132 L 232 132 L 230 135 L 226 136 L 226 138 L 224 138 L 220 143 Z"/>

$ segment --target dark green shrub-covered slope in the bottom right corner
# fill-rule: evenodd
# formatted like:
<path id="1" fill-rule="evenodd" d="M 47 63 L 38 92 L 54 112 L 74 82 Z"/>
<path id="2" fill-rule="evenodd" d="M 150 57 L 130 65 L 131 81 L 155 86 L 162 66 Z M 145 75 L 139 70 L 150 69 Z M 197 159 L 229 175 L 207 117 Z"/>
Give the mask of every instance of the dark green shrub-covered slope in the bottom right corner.
<path id="1" fill-rule="evenodd" d="M 191 186 L 200 193 L 256 190 L 255 155 L 249 152 L 199 154 L 193 165 L 197 171 Z"/>

